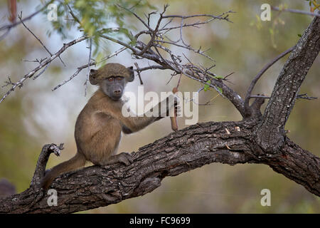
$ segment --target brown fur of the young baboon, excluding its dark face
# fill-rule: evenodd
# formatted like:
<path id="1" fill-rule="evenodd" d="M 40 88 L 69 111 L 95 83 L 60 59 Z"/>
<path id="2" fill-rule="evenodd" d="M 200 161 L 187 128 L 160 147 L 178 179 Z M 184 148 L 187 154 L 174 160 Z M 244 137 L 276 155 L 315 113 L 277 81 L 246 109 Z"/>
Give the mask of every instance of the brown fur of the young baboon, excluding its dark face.
<path id="1" fill-rule="evenodd" d="M 102 80 L 110 75 L 119 76 L 117 73 L 128 74 L 130 72 L 128 68 L 118 63 L 109 63 L 109 65 L 107 64 L 98 70 L 98 77 L 100 77 L 99 80 Z M 166 100 L 159 103 L 155 108 L 161 107 L 164 103 L 166 103 Z M 44 189 L 48 189 L 55 177 L 58 177 L 63 172 L 70 172 L 84 166 L 86 160 L 95 165 L 109 165 L 112 162 L 119 161 L 128 165 L 128 160 L 130 160 L 128 158 L 129 154 L 121 153 L 115 155 L 121 139 L 121 132 L 137 132 L 155 120 L 159 120 L 159 117 L 142 116 L 124 118 L 122 115 L 122 105 L 124 105 L 122 100 L 112 100 L 106 95 L 102 90 L 102 84 L 100 84 L 100 88 L 92 95 L 87 105 L 85 105 L 78 115 L 75 123 L 77 154 L 70 160 L 53 167 L 43 177 L 41 186 Z M 173 103 L 166 103 L 166 111 L 172 106 Z"/>

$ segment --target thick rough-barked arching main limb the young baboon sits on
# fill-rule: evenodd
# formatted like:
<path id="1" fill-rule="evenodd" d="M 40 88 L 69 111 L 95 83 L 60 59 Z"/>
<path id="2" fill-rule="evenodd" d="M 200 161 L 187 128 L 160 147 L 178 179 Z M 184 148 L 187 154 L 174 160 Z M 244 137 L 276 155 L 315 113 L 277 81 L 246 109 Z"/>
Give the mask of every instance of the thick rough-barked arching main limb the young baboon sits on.
<path id="1" fill-rule="evenodd" d="M 279 153 L 266 155 L 252 139 L 257 123 L 245 120 L 191 125 L 132 152 L 132 165 L 91 166 L 60 175 L 51 185 L 58 192 L 58 206 L 48 206 L 49 196 L 38 185 L 31 185 L 21 194 L 0 199 L 0 213 L 70 213 L 104 207 L 152 192 L 164 177 L 213 162 L 270 165 L 320 195 L 319 157 L 289 139 Z"/>

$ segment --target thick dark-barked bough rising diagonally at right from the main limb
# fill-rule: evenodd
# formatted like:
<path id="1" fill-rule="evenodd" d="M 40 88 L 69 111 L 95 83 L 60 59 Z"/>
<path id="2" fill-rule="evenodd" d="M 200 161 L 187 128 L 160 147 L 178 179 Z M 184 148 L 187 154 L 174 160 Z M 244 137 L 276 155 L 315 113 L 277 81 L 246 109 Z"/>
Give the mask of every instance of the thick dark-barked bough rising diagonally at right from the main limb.
<path id="1" fill-rule="evenodd" d="M 257 130 L 257 142 L 265 151 L 275 152 L 284 143 L 284 125 L 319 51 L 320 18 L 314 17 L 284 64 Z"/>

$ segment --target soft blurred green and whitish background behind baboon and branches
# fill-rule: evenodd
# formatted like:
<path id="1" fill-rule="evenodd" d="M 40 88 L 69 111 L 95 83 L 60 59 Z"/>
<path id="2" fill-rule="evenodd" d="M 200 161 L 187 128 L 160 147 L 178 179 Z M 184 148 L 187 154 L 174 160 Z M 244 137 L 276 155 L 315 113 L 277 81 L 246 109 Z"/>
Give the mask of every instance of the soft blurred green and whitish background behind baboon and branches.
<path id="1" fill-rule="evenodd" d="M 272 21 L 259 21 L 260 6 L 269 3 L 272 6 L 287 4 L 292 9 L 309 11 L 307 1 L 149 1 L 159 10 L 165 3 L 170 7 L 167 14 L 220 14 L 233 10 L 230 20 L 214 21 L 201 28 L 188 28 L 183 36 L 188 43 L 198 48 L 210 48 L 208 55 L 215 59 L 213 72 L 217 75 L 228 75 L 230 86 L 242 97 L 252 78 L 272 58 L 297 43 L 299 36 L 309 25 L 311 16 L 272 12 Z M 18 1 L 18 12 L 29 15 L 35 11 L 38 1 Z M 148 13 L 148 12 L 146 12 Z M 0 1 L 0 24 L 8 23 L 6 1 Z M 134 19 L 127 23 L 137 24 Z M 80 36 L 77 31 L 70 31 L 72 37 L 62 40 L 56 33 L 46 35 L 50 23 L 45 15 L 38 15 L 26 25 L 41 38 L 51 52 L 58 51 L 63 42 Z M 178 39 L 178 33 L 171 33 Z M 87 43 L 73 46 L 61 56 L 66 67 L 58 58 L 48 70 L 37 80 L 28 80 L 23 88 L 11 93 L 0 104 L 0 178 L 6 178 L 16 186 L 17 192 L 28 188 L 33 175 L 36 160 L 41 147 L 50 142 L 65 143 L 65 150 L 60 157 L 50 157 L 48 167 L 69 159 L 75 154 L 73 130 L 78 113 L 90 95 L 97 89 L 89 86 L 85 96 L 87 71 L 82 71 L 73 81 L 54 92 L 51 90 L 58 83 L 69 78 L 78 66 L 87 63 Z M 117 50 L 119 46 L 104 43 L 105 55 Z M 173 48 L 174 51 L 176 50 Z M 210 62 L 188 51 L 183 53 L 194 62 L 210 66 Z M 34 60 L 48 56 L 46 51 L 22 25 L 14 28 L 4 40 L 0 41 L 0 85 L 10 76 L 18 81 L 21 76 L 36 67 L 36 63 L 22 60 Z M 287 58 L 287 57 L 286 57 Z M 281 68 L 286 60 L 278 61 L 257 83 L 254 92 L 270 95 Z M 129 52 L 115 56 L 110 62 L 119 62 L 125 66 L 133 66 L 137 60 L 132 59 Z M 138 61 L 146 65 L 146 61 Z M 320 58 L 304 81 L 301 93 L 320 97 Z M 171 78 L 170 71 L 144 71 L 144 91 L 171 91 L 178 81 Z M 167 84 L 168 83 L 168 84 Z M 134 81 L 127 90 L 137 92 L 139 80 Z M 201 84 L 186 77 L 182 78 L 181 91 L 196 91 Z M 8 87 L 1 88 L 4 95 Z M 213 98 L 214 90 L 201 92 L 199 101 Z M 226 99 L 217 97 L 212 105 L 199 107 L 199 122 L 241 120 L 240 114 Z M 265 107 L 265 106 L 264 106 Z M 320 101 L 297 100 L 290 115 L 286 129 L 290 130 L 289 138 L 301 147 L 320 155 Z M 178 120 L 179 128 L 184 128 L 183 118 Z M 139 133 L 123 135 L 119 152 L 137 151 L 139 147 L 164 137 L 171 132 L 169 118 L 165 118 Z M 271 207 L 262 207 L 260 191 L 271 191 Z M 304 187 L 283 175 L 274 172 L 266 165 L 223 165 L 213 163 L 192 170 L 177 177 L 166 177 L 161 187 L 153 192 L 127 199 L 119 204 L 92 209 L 87 213 L 319 213 L 320 198 L 306 191 Z"/>

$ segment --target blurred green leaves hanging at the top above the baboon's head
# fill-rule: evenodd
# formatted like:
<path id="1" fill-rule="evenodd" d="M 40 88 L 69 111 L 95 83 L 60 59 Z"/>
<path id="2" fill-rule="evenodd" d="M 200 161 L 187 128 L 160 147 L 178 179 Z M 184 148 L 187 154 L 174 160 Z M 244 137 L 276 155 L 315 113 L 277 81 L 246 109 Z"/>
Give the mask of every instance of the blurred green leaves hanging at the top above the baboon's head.
<path id="1" fill-rule="evenodd" d="M 124 10 L 127 9 L 127 10 Z M 97 56 L 99 50 L 98 33 L 110 33 L 111 36 L 126 38 L 128 43 L 134 42 L 132 33 L 128 29 L 134 29 L 133 24 L 125 23 L 126 16 L 132 16 L 129 12 L 148 11 L 155 9 L 146 0 L 65 0 L 58 1 L 58 20 L 51 21 L 52 28 L 47 33 L 50 36 L 52 31 L 57 31 L 63 38 L 68 37 L 70 28 L 77 27 L 80 31 L 92 37 L 95 51 L 93 57 Z M 48 10 L 43 11 L 48 14 Z M 120 28 L 114 31 L 108 26 Z"/>

